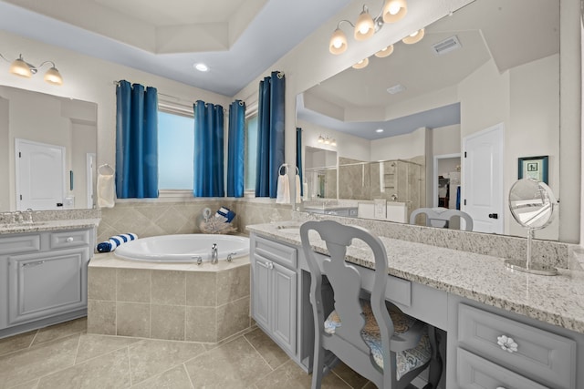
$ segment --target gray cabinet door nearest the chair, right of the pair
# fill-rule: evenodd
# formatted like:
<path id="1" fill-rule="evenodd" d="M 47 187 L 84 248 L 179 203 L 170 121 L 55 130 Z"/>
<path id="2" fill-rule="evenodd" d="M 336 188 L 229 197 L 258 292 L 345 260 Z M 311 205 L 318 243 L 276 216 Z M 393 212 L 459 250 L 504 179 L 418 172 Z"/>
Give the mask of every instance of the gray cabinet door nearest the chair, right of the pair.
<path id="1" fill-rule="evenodd" d="M 272 269 L 272 333 L 282 347 L 296 353 L 296 271 L 274 263 Z"/>

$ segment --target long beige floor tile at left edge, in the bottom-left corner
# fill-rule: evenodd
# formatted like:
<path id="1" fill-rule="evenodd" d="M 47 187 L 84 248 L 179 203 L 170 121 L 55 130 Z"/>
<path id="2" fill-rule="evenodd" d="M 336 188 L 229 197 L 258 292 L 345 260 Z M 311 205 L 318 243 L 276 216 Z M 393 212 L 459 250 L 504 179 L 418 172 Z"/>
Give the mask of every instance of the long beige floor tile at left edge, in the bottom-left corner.
<path id="1" fill-rule="evenodd" d="M 0 388 L 24 384 L 72 366 L 79 336 L 68 336 L 0 357 Z"/>

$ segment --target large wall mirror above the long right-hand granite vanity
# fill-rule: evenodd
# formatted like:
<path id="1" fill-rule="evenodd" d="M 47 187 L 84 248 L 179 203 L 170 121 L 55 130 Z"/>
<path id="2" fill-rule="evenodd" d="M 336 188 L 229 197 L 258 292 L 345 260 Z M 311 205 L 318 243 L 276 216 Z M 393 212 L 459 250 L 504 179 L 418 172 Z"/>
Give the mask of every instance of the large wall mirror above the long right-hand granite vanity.
<path id="1" fill-rule="evenodd" d="M 306 148 L 336 139 L 323 148 L 338 154 L 338 201 L 401 203 L 404 221 L 420 207 L 465 210 L 465 198 L 480 197 L 471 181 L 490 179 L 480 169 L 464 178 L 464 150 L 496 130 L 501 211 L 485 212 L 475 229 L 523 236 L 504 194 L 526 155 L 549 156 L 549 186 L 558 191 L 559 104 L 559 1 L 475 0 L 427 26 L 419 43 L 397 42 L 390 56 L 370 56 L 369 66 L 298 95 L 297 127 Z M 392 173 L 392 163 L 409 169 Z M 375 219 L 394 220 L 388 213 Z M 558 224 L 537 238 L 558 240 Z"/>

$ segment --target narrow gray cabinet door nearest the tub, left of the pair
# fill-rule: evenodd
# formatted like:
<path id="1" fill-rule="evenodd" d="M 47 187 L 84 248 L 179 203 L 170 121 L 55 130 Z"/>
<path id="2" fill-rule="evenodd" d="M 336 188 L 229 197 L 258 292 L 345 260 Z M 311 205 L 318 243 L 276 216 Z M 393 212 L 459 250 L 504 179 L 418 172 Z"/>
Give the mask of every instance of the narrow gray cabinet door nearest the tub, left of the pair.
<path id="1" fill-rule="evenodd" d="M 270 330 L 270 265 L 258 255 L 253 258 L 252 317 L 266 331 Z"/>

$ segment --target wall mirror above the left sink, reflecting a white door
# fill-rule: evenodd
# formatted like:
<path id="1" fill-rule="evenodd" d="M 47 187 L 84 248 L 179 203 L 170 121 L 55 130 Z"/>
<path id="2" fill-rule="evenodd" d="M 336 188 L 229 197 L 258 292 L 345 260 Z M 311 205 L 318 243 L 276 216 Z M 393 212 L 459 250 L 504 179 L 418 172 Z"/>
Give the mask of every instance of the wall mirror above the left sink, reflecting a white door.
<path id="1" fill-rule="evenodd" d="M 0 211 L 93 208 L 97 109 L 0 86 Z"/>

